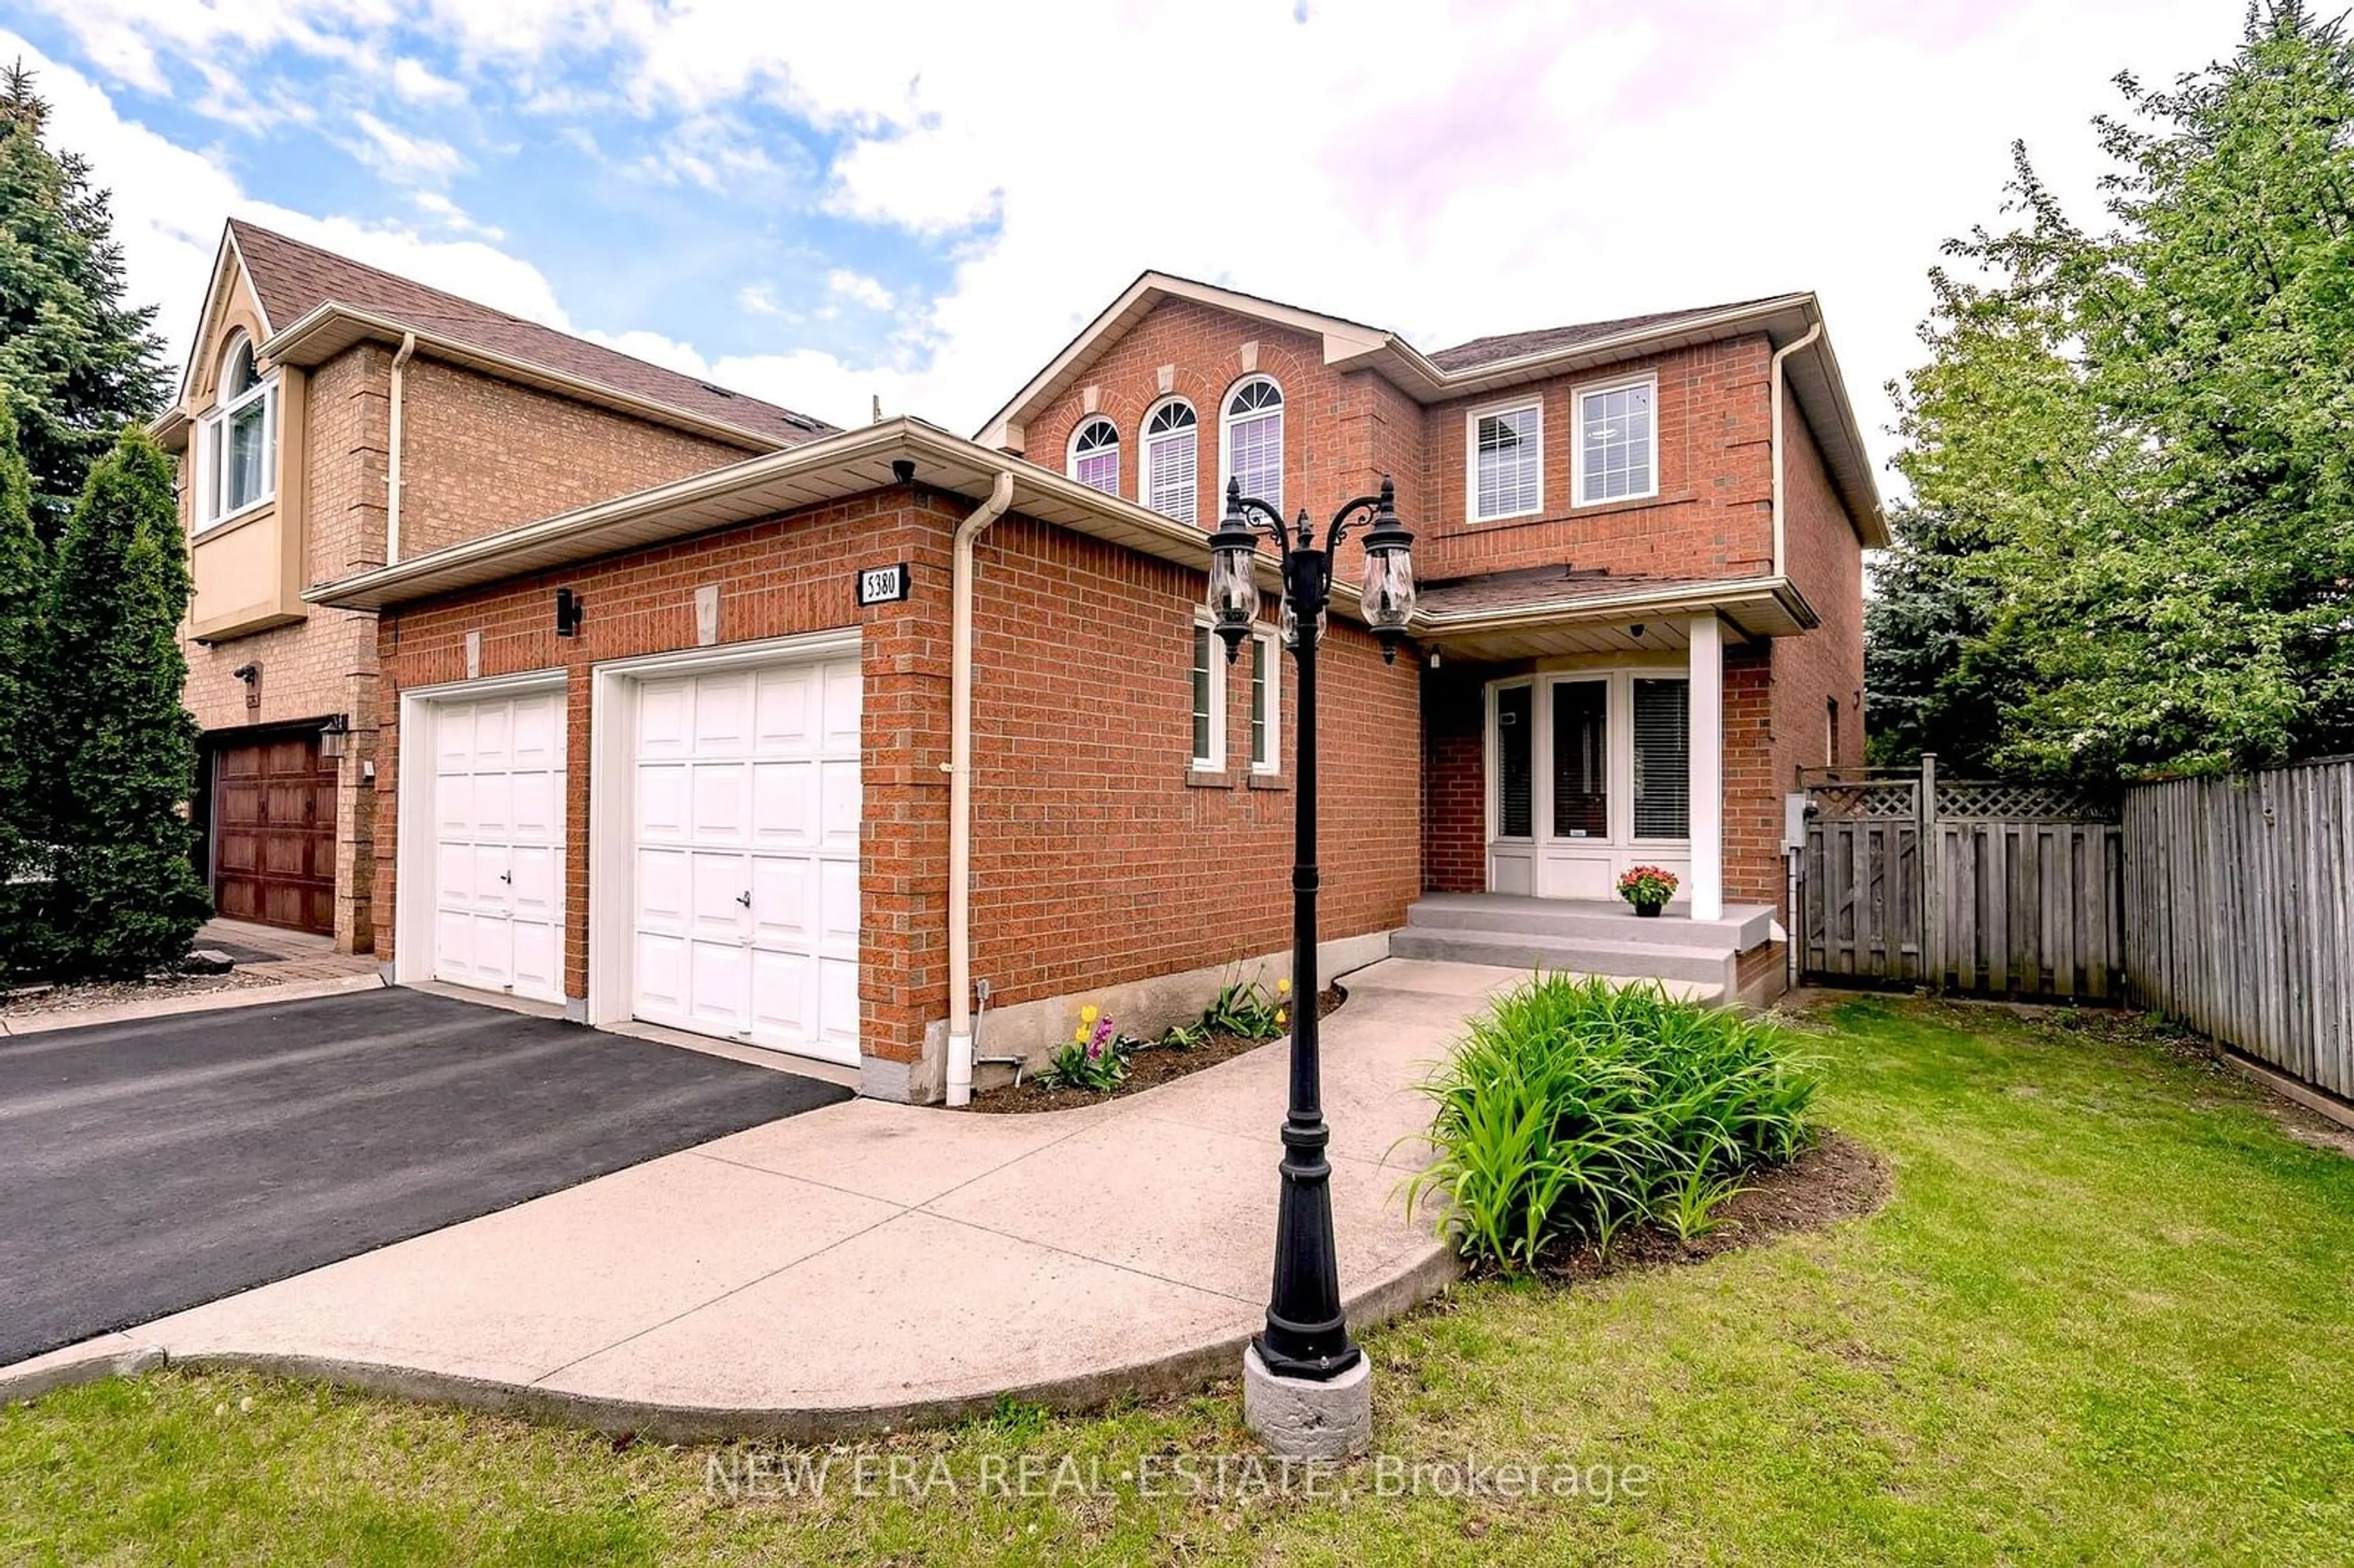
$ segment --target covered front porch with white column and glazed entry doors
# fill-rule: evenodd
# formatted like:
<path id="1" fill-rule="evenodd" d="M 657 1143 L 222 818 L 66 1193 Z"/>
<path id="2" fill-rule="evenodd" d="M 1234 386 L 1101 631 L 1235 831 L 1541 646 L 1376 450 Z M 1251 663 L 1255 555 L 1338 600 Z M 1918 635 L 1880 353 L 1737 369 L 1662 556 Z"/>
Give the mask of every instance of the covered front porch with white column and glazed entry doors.
<path id="1" fill-rule="evenodd" d="M 1813 624 L 1787 582 L 1544 567 L 1427 600 L 1427 888 L 1620 918 L 1620 878 L 1660 866 L 1702 925 L 1780 897 L 1770 647 Z"/>

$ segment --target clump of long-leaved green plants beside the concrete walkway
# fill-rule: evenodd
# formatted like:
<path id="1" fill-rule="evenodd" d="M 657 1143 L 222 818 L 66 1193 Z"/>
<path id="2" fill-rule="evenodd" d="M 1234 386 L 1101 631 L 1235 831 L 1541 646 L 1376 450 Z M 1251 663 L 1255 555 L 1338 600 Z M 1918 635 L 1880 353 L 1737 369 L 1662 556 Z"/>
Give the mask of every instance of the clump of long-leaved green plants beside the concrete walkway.
<path id="1" fill-rule="evenodd" d="M 1556 1243 L 1608 1253 L 1643 1220 L 1688 1241 L 1742 1172 L 1813 1142 L 1817 1088 L 1780 1029 L 1733 1008 L 1537 975 L 1424 1085 L 1438 1158 L 1408 1182 L 1408 1205 L 1443 1198 L 1455 1245 L 1504 1269 Z"/>

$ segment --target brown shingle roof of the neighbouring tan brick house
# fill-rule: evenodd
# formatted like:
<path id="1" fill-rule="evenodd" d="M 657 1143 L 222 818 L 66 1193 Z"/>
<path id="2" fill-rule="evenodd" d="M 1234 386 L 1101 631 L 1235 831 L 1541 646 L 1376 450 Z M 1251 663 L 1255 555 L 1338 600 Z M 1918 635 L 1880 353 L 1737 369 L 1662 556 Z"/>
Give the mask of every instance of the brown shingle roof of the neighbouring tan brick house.
<path id="1" fill-rule="evenodd" d="M 833 431 L 824 419 L 697 381 L 676 370 L 541 327 L 534 320 L 339 257 L 332 250 L 304 245 L 240 219 L 231 219 L 228 228 L 238 240 L 238 254 L 245 257 L 245 273 L 261 294 L 271 330 L 282 332 L 332 301 L 581 381 L 596 381 L 631 398 L 664 403 L 699 419 L 732 424 L 779 445 L 800 445 Z"/>

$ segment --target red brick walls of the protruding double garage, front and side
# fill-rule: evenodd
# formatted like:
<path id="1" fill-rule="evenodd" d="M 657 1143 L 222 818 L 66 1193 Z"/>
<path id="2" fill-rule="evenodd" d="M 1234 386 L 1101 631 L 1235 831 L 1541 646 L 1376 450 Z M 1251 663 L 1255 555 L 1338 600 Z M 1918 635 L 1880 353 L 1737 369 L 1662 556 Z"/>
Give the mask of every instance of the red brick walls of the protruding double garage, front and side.
<path id="1" fill-rule="evenodd" d="M 565 991 L 588 979 L 588 666 L 694 645 L 694 589 L 720 586 L 720 640 L 859 624 L 866 702 L 859 892 L 862 1034 L 916 1059 L 946 1015 L 949 539 L 970 504 L 887 490 L 386 612 L 384 711 L 395 692 L 483 673 L 565 669 Z M 855 563 L 911 563 L 904 605 L 852 612 Z M 556 638 L 556 586 L 586 596 Z M 1191 607 L 1201 577 L 1022 516 L 977 549 L 975 975 L 996 1003 L 1177 972 L 1285 944 L 1285 772 L 1248 772 L 1248 657 L 1229 678 L 1224 779 L 1189 772 Z M 1363 631 L 1325 643 L 1323 935 L 1398 925 L 1419 881 L 1415 669 L 1384 666 Z M 1283 704 L 1295 704 L 1285 671 Z M 1288 713 L 1285 713 L 1288 718 Z M 388 723 L 391 727 L 391 723 Z M 379 770 L 377 939 L 393 946 L 398 746 Z M 607 815 L 614 808 L 607 808 Z"/>

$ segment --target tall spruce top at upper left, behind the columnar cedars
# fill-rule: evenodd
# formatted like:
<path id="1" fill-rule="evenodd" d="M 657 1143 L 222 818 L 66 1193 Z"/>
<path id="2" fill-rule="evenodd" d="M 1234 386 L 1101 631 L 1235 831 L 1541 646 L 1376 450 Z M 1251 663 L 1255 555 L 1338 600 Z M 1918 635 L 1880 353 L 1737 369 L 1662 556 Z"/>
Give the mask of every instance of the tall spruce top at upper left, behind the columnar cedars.
<path id="1" fill-rule="evenodd" d="M 42 141 L 49 106 L 0 71 L 0 381 L 16 388 L 33 523 L 64 527 L 82 476 L 127 421 L 165 403 L 155 306 L 122 304 L 122 247 L 89 165 Z"/>

